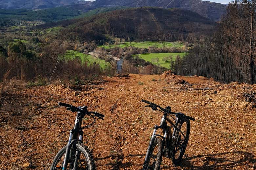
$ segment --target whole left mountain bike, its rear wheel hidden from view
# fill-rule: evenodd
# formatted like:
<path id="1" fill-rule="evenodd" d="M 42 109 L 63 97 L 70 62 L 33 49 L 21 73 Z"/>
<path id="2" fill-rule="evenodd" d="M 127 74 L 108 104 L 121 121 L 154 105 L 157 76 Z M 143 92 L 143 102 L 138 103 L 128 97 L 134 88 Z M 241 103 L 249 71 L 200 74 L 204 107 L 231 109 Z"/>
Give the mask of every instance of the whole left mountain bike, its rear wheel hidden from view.
<path id="1" fill-rule="evenodd" d="M 83 144 L 82 121 L 84 116 L 88 115 L 93 118 L 88 128 L 95 123 L 95 116 L 104 120 L 104 115 L 97 112 L 88 112 L 87 106 L 75 107 L 70 104 L 59 102 L 58 105 L 67 107 L 67 110 L 77 112 L 74 129 L 70 130 L 68 144 L 60 149 L 55 156 L 50 170 L 95 170 L 92 152 Z"/>

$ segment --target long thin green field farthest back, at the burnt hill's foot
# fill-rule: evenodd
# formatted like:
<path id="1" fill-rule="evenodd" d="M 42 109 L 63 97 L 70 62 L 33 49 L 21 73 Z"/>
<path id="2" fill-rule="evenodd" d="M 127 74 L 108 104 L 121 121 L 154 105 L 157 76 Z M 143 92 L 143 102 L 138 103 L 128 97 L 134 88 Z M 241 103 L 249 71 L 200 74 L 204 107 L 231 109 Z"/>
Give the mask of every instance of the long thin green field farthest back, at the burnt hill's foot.
<path id="1" fill-rule="evenodd" d="M 106 49 L 108 48 L 113 48 L 113 47 L 129 47 L 129 46 L 133 46 L 133 47 L 138 47 L 138 48 L 148 48 L 148 47 L 183 47 L 184 44 L 182 42 L 154 42 L 154 41 L 144 41 L 144 42 L 135 42 L 135 41 L 131 41 L 131 42 L 124 42 L 122 44 L 119 45 L 100 45 L 98 47 L 104 47 Z"/>

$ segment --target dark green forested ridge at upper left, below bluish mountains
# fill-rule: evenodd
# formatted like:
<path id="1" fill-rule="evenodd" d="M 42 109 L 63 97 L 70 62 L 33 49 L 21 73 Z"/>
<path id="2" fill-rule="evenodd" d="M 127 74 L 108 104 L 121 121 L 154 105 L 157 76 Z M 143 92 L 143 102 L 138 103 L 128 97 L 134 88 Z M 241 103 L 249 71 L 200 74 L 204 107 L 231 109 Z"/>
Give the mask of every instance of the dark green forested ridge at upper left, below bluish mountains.
<path id="1" fill-rule="evenodd" d="M 0 9 L 0 27 L 10 25 L 20 25 L 21 21 L 36 21 L 36 23 L 54 22 L 58 20 L 89 17 L 103 12 L 123 9 L 127 7 L 108 7 L 96 8 L 93 10 L 86 8 L 78 8 L 79 5 L 62 6 L 56 8 L 48 8 L 42 10 L 28 9 Z M 131 8 L 131 7 L 129 7 Z M 87 12 L 86 12 L 87 11 Z M 50 27 L 53 27 L 49 23 Z"/>

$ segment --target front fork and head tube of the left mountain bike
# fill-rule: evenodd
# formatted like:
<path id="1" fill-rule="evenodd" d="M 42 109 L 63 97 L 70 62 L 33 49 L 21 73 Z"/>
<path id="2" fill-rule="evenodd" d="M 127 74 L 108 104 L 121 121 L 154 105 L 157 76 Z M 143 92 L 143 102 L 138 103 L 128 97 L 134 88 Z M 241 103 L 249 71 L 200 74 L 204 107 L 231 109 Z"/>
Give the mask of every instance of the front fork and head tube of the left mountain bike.
<path id="1" fill-rule="evenodd" d="M 67 148 L 66 148 L 66 153 L 65 153 L 65 158 L 64 158 L 64 161 L 63 161 L 62 170 L 66 170 L 66 168 L 67 168 L 67 164 L 68 164 L 67 160 L 70 157 L 71 148 L 72 147 L 76 148 L 76 143 L 83 141 L 83 130 L 81 128 L 81 125 L 82 125 L 82 121 L 83 121 L 84 116 L 85 115 L 83 113 L 77 112 L 74 128 L 71 129 L 70 133 L 69 133 L 69 140 L 68 140 L 68 144 L 67 144 Z M 79 137 L 78 137 L 78 135 L 79 135 Z M 76 163 L 78 161 L 78 158 L 77 158 L 78 154 L 80 154 L 80 153 L 78 151 L 76 151 L 74 166 L 76 166 Z"/>

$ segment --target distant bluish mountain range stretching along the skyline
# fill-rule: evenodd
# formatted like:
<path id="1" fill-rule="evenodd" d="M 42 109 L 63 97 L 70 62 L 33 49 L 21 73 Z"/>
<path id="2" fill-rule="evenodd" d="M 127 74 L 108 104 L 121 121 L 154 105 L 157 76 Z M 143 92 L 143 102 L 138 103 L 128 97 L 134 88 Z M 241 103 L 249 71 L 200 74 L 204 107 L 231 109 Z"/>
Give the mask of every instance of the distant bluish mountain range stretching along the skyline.
<path id="1" fill-rule="evenodd" d="M 65 6 L 87 12 L 103 7 L 160 7 L 181 8 L 196 12 L 213 21 L 220 21 L 226 5 L 201 0 L 0 0 L 0 9 L 46 9 Z"/>

